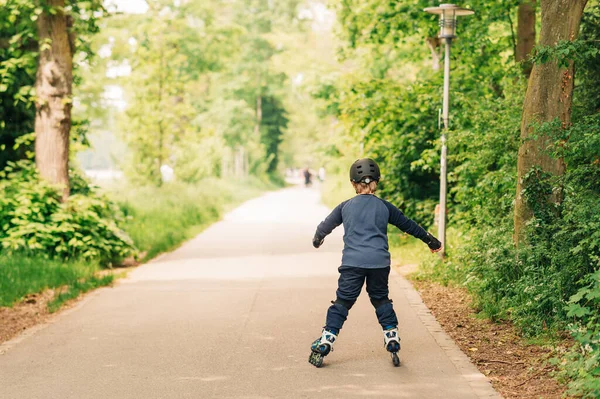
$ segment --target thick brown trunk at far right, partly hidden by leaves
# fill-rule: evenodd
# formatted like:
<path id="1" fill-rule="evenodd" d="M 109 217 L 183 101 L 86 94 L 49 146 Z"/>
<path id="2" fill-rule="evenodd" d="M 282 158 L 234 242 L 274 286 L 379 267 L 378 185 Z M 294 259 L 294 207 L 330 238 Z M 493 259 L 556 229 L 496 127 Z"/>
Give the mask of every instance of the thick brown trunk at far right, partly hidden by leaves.
<path id="1" fill-rule="evenodd" d="M 542 30 L 540 44 L 554 46 L 561 40 L 575 40 L 587 0 L 541 0 Z M 521 120 L 521 146 L 517 161 L 517 196 L 515 203 L 515 243 L 523 240 L 523 227 L 532 216 L 522 196 L 523 177 L 532 167 L 540 167 L 552 175 L 562 175 L 565 164 L 546 152 L 552 139 L 538 135 L 531 126 L 560 118 L 564 128 L 571 123 L 574 65 L 560 69 L 556 62 L 534 65 L 529 78 Z M 555 193 L 550 201 L 559 202 L 562 195 Z"/>

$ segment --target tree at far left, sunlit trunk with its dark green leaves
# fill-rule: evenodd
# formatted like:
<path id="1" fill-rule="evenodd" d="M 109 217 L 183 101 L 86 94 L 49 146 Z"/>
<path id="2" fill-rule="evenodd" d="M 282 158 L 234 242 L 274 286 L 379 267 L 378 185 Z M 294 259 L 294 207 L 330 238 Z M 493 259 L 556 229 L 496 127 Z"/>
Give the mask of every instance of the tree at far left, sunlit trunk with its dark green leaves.
<path id="1" fill-rule="evenodd" d="M 0 168 L 8 161 L 32 157 L 29 134 L 36 130 L 39 140 L 35 147 L 39 150 L 37 160 L 42 174 L 55 183 L 67 181 L 65 145 L 68 149 L 70 93 L 76 72 L 73 68 L 85 63 L 91 54 L 89 39 L 98 31 L 102 3 L 103 0 L 2 2 L 0 107 L 6 117 L 0 118 L 5 121 L 0 123 Z M 76 139 L 80 137 L 75 135 Z M 19 144 L 16 149 L 15 143 Z"/>

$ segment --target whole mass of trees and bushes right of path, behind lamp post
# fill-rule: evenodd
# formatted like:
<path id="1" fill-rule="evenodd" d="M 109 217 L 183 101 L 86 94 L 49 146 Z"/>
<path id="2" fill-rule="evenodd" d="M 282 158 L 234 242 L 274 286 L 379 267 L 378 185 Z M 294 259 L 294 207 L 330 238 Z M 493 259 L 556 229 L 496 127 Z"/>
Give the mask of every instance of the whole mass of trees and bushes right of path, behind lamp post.
<path id="1" fill-rule="evenodd" d="M 340 122 L 324 145 L 330 175 L 347 181 L 356 154 L 375 158 L 379 195 L 435 232 L 443 43 L 421 11 L 431 5 L 340 4 L 340 53 L 355 69 L 318 95 Z M 448 256 L 427 257 L 420 278 L 467 288 L 480 316 L 524 337 L 570 336 L 554 376 L 568 395 L 597 398 L 600 6 L 468 6 L 453 41 Z"/>

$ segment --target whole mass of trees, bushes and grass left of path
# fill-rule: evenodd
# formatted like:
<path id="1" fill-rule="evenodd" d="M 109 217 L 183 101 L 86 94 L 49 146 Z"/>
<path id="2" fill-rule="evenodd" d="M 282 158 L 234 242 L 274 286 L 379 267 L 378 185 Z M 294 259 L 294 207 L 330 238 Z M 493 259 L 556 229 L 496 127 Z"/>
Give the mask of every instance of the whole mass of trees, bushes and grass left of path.
<path id="1" fill-rule="evenodd" d="M 5 3 L 0 306 L 52 289 L 54 311 L 110 284 L 103 269 L 173 250 L 281 186 L 294 145 L 280 145 L 306 104 L 287 86 L 294 49 L 268 37 L 306 36 L 296 3 Z M 125 176 L 96 187 L 83 172 L 94 168 Z"/>

